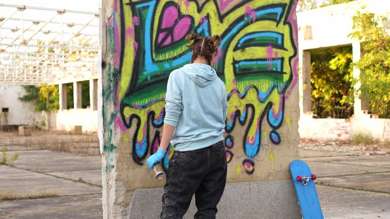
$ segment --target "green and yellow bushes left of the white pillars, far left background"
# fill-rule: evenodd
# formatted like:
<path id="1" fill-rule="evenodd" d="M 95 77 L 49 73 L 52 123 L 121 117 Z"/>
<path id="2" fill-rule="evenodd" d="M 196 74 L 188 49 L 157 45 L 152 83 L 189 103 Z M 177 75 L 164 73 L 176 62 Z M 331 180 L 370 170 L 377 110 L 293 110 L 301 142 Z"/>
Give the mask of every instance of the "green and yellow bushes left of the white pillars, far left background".
<path id="1" fill-rule="evenodd" d="M 55 111 L 59 109 L 58 85 L 23 86 L 25 95 L 19 97 L 20 101 L 34 101 L 35 111 Z"/>

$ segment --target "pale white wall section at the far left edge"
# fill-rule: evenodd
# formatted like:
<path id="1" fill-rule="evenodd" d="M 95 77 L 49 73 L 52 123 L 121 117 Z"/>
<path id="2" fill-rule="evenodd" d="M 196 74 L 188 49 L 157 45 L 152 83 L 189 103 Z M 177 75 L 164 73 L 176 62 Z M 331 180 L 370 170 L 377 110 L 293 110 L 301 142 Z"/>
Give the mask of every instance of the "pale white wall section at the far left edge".
<path id="1" fill-rule="evenodd" d="M 0 125 L 28 125 L 34 118 L 32 102 L 18 100 L 25 94 L 20 85 L 0 85 Z M 9 108 L 8 116 L 1 116 L 1 109 Z"/>

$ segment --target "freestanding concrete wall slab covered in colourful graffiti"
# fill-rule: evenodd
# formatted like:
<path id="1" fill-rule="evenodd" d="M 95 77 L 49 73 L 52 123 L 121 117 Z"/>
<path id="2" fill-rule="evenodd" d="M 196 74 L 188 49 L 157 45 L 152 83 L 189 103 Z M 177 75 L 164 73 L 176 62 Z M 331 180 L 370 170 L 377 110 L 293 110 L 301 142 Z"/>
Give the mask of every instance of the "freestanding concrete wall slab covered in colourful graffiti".
<path id="1" fill-rule="evenodd" d="M 147 170 L 146 159 L 159 144 L 169 74 L 189 63 L 184 38 L 191 31 L 223 39 L 215 68 L 228 92 L 228 181 L 290 178 L 299 140 L 295 4 L 103 1 L 105 218 L 120 218 L 131 201 L 126 191 L 163 186 Z"/>

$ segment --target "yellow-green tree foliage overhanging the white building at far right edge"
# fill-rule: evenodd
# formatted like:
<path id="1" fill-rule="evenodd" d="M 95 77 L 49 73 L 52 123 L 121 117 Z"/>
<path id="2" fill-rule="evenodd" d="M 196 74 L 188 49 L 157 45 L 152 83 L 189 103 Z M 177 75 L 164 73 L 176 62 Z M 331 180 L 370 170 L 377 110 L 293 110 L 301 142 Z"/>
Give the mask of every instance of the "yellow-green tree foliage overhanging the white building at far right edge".
<path id="1" fill-rule="evenodd" d="M 390 36 L 385 16 L 356 12 L 350 36 L 362 41 L 364 55 L 354 63 L 361 70 L 359 91 L 370 101 L 371 112 L 390 118 Z"/>

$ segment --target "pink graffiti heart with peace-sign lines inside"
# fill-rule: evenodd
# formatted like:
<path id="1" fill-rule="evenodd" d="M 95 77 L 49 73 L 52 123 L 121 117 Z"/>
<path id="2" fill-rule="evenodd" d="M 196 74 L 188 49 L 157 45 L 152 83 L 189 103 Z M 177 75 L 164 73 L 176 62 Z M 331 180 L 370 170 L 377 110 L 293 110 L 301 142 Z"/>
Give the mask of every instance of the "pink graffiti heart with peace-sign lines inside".
<path id="1" fill-rule="evenodd" d="M 170 6 L 165 9 L 161 18 L 158 34 L 158 44 L 167 46 L 181 40 L 191 27 L 192 20 L 188 16 L 179 17 L 176 7 Z M 165 30 L 165 31 L 164 31 Z M 173 36 L 173 39 L 172 39 Z M 166 39 L 164 42 L 164 39 Z"/>

